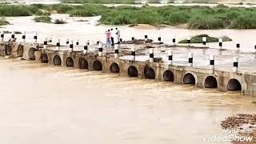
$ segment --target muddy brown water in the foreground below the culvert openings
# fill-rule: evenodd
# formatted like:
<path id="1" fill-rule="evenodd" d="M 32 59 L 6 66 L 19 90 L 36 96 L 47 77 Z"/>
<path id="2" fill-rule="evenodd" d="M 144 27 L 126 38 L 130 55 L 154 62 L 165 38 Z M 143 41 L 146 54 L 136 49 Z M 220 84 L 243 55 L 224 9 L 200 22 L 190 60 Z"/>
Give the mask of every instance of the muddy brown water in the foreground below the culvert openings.
<path id="1" fill-rule="evenodd" d="M 254 112 L 233 91 L 18 58 L 0 58 L 0 75 L 2 143 L 204 143 L 227 116 Z"/>

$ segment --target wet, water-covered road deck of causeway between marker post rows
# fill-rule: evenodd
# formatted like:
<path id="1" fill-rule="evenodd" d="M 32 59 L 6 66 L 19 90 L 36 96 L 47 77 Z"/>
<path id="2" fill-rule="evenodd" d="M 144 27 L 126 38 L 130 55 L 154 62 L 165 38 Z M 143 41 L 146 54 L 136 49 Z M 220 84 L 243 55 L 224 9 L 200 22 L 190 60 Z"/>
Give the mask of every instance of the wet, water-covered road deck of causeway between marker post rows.
<path id="1" fill-rule="evenodd" d="M 214 54 L 215 70 L 233 70 L 233 58 L 238 57 L 238 71 L 255 73 L 256 72 L 256 53 L 254 52 L 243 52 L 241 50 L 218 50 L 214 48 L 192 48 L 192 47 L 178 47 L 169 46 L 165 44 L 154 44 L 147 43 L 142 45 L 134 44 L 121 44 L 121 50 L 119 58 L 131 59 L 130 48 L 135 47 L 136 57 L 135 61 L 146 62 L 150 59 L 149 48 L 146 46 L 154 47 L 154 58 L 162 58 L 163 62 L 168 62 L 168 50 L 173 51 L 173 64 L 176 66 L 188 66 L 188 53 L 194 55 L 194 67 L 210 69 L 210 54 Z M 106 48 L 103 45 L 103 54 L 114 56 L 114 47 Z M 202 46 L 201 46 L 202 47 Z M 50 48 L 55 50 L 55 47 Z M 69 50 L 69 46 L 62 46 L 61 50 Z M 74 46 L 74 51 L 82 51 L 83 46 Z M 90 45 L 88 47 L 89 54 L 97 54 L 98 45 Z M 124 54 L 125 53 L 125 54 Z"/>

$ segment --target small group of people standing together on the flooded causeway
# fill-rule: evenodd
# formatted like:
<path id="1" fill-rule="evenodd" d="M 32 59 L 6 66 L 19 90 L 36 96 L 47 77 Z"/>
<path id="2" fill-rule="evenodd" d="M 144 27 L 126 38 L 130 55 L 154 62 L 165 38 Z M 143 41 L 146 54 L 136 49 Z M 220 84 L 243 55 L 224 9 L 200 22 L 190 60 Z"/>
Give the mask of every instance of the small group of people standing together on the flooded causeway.
<path id="1" fill-rule="evenodd" d="M 117 43 L 120 43 L 120 30 L 118 28 L 115 28 L 115 30 L 110 29 L 106 30 L 106 47 L 114 46 L 114 39 L 116 38 Z"/>

